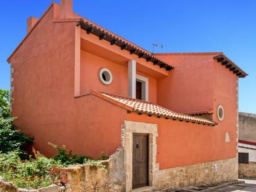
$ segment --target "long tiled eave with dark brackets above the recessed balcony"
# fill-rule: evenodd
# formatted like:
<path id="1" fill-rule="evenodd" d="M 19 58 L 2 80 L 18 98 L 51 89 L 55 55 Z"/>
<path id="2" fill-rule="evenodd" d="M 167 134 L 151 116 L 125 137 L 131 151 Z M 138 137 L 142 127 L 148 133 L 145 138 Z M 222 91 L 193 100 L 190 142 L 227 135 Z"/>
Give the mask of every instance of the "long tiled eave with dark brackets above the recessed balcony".
<path id="1" fill-rule="evenodd" d="M 87 19 L 81 19 L 76 25 L 80 25 L 81 29 L 86 30 L 87 34 L 94 34 L 99 37 L 99 40 L 104 39 L 111 45 L 117 45 L 121 48 L 121 50 L 127 50 L 130 52 L 130 54 L 135 54 L 139 58 L 144 58 L 147 62 L 152 62 L 153 65 L 158 65 L 160 68 L 165 68 L 167 71 L 173 68 L 172 65 L 160 60 L 160 58 L 155 57 L 147 50 L 140 48 L 138 45 L 129 42 L 128 40 L 104 29 L 103 27 L 99 27 L 99 25 L 96 25 Z"/>

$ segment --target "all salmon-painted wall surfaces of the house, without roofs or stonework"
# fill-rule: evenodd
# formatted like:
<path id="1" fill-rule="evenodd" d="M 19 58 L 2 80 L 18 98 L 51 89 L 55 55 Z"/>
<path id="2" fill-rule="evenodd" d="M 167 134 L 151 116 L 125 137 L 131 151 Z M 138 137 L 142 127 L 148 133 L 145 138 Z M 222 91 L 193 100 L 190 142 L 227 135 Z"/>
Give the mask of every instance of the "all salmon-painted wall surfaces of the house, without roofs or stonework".
<path id="1" fill-rule="evenodd" d="M 121 125 L 127 119 L 158 124 L 160 169 L 235 157 L 236 77 L 214 62 L 213 55 L 159 55 L 175 69 L 167 78 L 147 77 L 149 100 L 173 111 L 215 110 L 221 103 L 225 117 L 219 126 L 127 114 L 95 96 L 74 98 L 76 22 L 53 22 L 58 15 L 59 7 L 53 4 L 11 58 L 12 115 L 18 117 L 15 124 L 22 132 L 34 136 L 36 150 L 53 155 L 55 150 L 47 144 L 52 142 L 93 158 L 101 151 L 111 155 L 121 145 Z M 98 79 L 103 66 L 113 73 L 110 86 L 101 85 Z M 81 51 L 80 72 L 84 94 L 89 89 L 127 94 L 126 66 Z M 122 84 L 117 82 L 119 78 L 124 80 Z M 230 143 L 224 142 L 226 131 Z"/>

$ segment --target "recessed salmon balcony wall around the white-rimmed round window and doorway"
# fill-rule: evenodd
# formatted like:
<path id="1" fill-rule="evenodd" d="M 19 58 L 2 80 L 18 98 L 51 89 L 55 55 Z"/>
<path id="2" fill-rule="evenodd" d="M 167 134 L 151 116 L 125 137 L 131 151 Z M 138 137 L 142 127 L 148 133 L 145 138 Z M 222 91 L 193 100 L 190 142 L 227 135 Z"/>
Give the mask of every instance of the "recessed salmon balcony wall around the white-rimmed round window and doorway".
<path id="1" fill-rule="evenodd" d="M 127 61 L 128 62 L 128 61 Z M 107 68 L 111 71 L 113 80 L 110 85 L 104 85 L 99 80 L 99 70 Z M 81 95 L 89 94 L 91 89 L 121 96 L 128 96 L 128 68 L 127 65 L 114 63 L 106 58 L 93 55 L 81 50 Z M 137 72 L 149 78 L 149 101 L 157 103 L 157 80 L 152 76 Z"/>

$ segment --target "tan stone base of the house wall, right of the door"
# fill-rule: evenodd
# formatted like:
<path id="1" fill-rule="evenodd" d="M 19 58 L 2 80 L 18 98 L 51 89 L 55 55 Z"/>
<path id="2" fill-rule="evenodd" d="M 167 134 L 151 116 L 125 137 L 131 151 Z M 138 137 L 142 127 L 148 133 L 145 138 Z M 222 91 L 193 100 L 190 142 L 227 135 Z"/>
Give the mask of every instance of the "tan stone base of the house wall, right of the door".
<path id="1" fill-rule="evenodd" d="M 237 176 L 237 158 L 214 162 L 175 167 L 159 170 L 155 178 L 156 190 L 178 189 L 191 185 L 214 184 L 223 181 L 235 181 Z"/>

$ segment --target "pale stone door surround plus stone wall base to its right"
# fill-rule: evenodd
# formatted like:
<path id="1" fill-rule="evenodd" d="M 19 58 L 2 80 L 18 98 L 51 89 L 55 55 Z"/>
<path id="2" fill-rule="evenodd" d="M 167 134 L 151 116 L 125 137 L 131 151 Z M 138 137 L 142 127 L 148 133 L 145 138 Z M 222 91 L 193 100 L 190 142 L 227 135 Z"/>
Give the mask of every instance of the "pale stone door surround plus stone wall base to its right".
<path id="1" fill-rule="evenodd" d="M 238 179 L 237 157 L 159 170 L 159 164 L 156 162 L 157 124 L 125 121 L 122 127 L 122 145 L 125 153 L 126 191 L 131 191 L 132 185 L 133 133 L 149 134 L 149 185 L 153 186 L 155 191 L 175 190 L 185 186 L 214 184 Z"/>

